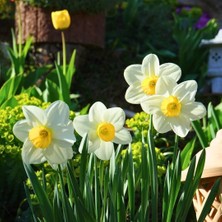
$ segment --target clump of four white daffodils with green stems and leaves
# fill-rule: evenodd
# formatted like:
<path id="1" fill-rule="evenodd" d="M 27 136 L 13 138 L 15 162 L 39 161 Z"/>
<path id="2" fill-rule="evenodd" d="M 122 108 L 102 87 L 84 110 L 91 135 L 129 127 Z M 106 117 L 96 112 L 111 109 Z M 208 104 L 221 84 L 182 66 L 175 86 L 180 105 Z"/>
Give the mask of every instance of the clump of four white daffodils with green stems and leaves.
<path id="1" fill-rule="evenodd" d="M 24 106 L 25 119 L 14 125 L 13 132 L 23 142 L 32 219 L 187 221 L 204 168 L 205 151 L 195 168 L 194 142 L 183 150 L 179 145 L 192 126 L 201 138 L 203 131 L 198 123 L 206 109 L 195 101 L 197 83 L 177 83 L 180 76 L 176 64 L 159 65 L 154 54 L 147 55 L 142 65 L 125 69 L 129 84 L 126 100 L 140 104 L 144 111 L 126 121 L 129 128 L 123 109 L 107 108 L 102 102 L 95 102 L 87 114 L 76 115 L 73 122 L 63 101 L 45 110 Z M 173 135 L 173 142 L 166 142 Z M 43 162 L 54 169 L 51 179 L 45 165 L 41 174 L 30 165 L 41 166 Z M 182 182 L 181 172 L 186 167 L 189 176 Z M 214 190 L 218 186 L 217 181 Z M 35 210 L 33 195 L 40 214 Z M 215 195 L 209 195 L 200 219 L 208 214 Z"/>

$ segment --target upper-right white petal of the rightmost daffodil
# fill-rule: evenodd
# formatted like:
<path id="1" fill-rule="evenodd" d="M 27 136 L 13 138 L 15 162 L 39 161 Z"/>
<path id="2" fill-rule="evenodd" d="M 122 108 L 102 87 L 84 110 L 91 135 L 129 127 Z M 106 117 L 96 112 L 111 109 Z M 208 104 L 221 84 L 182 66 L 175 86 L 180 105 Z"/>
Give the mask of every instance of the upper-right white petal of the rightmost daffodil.
<path id="1" fill-rule="evenodd" d="M 194 101 L 196 92 L 197 83 L 194 80 L 184 81 L 178 84 L 173 90 L 173 94 L 180 98 L 180 101 L 183 103 Z"/>

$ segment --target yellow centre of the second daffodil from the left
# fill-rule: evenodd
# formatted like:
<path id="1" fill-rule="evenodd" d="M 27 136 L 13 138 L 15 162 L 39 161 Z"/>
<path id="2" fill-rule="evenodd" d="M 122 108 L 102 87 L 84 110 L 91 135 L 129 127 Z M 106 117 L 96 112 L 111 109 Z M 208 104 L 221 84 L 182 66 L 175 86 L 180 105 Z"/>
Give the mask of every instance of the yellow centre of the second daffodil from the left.
<path id="1" fill-rule="evenodd" d="M 111 123 L 100 123 L 97 127 L 97 135 L 106 142 L 112 141 L 115 137 L 115 128 Z"/>

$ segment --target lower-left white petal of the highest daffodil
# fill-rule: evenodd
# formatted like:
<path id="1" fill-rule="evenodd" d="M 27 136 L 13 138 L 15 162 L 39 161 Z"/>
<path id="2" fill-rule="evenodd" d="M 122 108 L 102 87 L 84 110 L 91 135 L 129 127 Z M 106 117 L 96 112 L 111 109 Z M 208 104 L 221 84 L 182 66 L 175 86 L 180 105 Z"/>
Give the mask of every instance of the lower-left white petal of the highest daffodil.
<path id="1" fill-rule="evenodd" d="M 143 92 L 140 82 L 137 82 L 128 87 L 125 94 L 126 101 L 132 104 L 140 104 L 141 101 L 148 97 L 149 96 Z"/>

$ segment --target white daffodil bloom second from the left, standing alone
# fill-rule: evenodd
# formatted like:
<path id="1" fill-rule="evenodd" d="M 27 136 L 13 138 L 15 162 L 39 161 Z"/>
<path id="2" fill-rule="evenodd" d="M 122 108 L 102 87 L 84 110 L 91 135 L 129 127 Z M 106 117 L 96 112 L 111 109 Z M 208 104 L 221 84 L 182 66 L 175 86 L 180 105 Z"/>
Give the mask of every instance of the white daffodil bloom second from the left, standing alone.
<path id="1" fill-rule="evenodd" d="M 94 152 L 102 160 L 109 160 L 114 144 L 128 144 L 132 141 L 129 131 L 123 128 L 125 113 L 119 107 L 107 109 L 101 102 L 94 103 L 88 115 L 75 117 L 73 124 L 83 138 L 87 135 L 88 152 Z M 81 150 L 80 150 L 81 152 Z"/>

